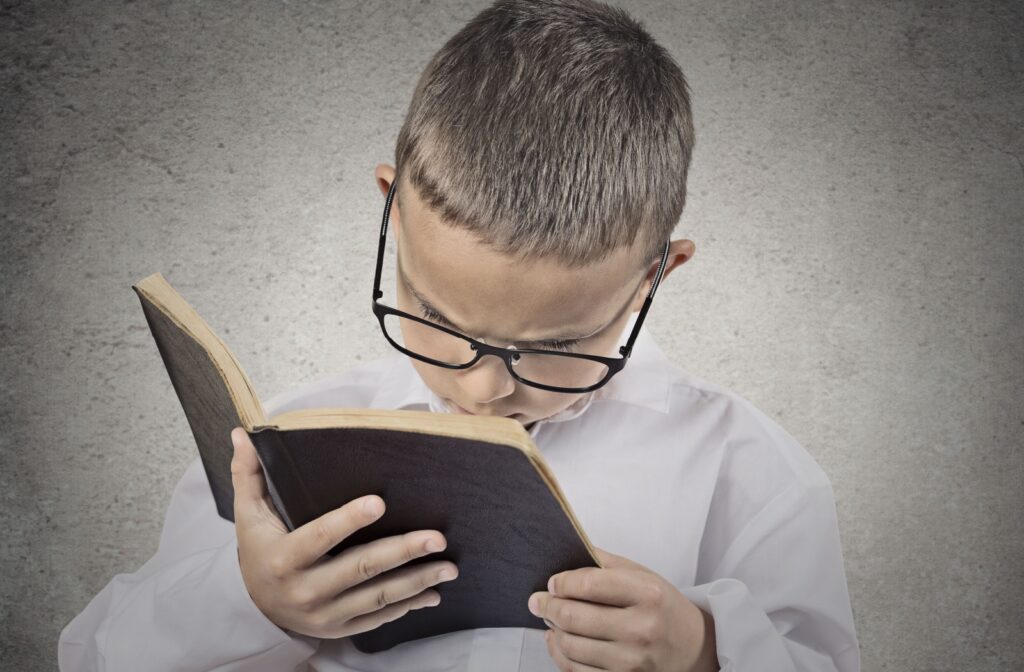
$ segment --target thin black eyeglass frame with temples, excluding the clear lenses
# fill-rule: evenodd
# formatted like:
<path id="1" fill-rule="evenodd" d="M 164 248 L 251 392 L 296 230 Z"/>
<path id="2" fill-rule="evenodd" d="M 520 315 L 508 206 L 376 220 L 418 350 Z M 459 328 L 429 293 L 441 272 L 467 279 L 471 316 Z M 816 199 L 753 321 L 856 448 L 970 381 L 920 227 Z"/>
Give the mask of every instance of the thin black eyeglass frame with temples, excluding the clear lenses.
<path id="1" fill-rule="evenodd" d="M 662 282 L 662 275 L 665 271 L 665 264 L 669 258 L 669 245 L 670 242 L 666 242 L 665 251 L 662 253 L 662 261 L 657 265 L 657 272 L 654 275 L 654 282 L 651 283 L 650 291 L 647 293 L 647 297 L 644 299 L 643 306 L 640 308 L 640 314 L 637 316 L 636 323 L 633 325 L 633 331 L 630 333 L 629 339 L 626 341 L 626 345 L 618 348 L 618 353 L 622 355 L 620 358 L 607 358 L 600 354 L 586 354 L 583 352 L 560 352 L 557 350 L 546 350 L 546 349 L 535 349 L 535 348 L 517 348 L 514 345 L 509 347 L 500 347 L 498 345 L 489 345 L 475 338 L 471 338 L 466 334 L 462 334 L 454 329 L 449 329 L 443 325 L 438 325 L 434 322 L 430 322 L 425 318 L 406 312 L 404 310 L 399 310 L 398 308 L 391 307 L 384 303 L 378 301 L 378 299 L 384 296 L 381 291 L 381 269 L 384 267 L 384 247 L 387 242 L 387 226 L 388 220 L 391 215 L 391 201 L 394 198 L 395 185 L 398 183 L 397 178 L 391 181 L 391 186 L 388 188 L 387 199 L 384 203 L 384 216 L 381 221 L 381 233 L 380 241 L 377 247 L 377 268 L 374 272 L 374 294 L 373 294 L 373 311 L 377 317 L 377 321 L 380 323 L 381 333 L 384 334 L 384 338 L 394 346 L 398 351 L 408 354 L 409 356 L 415 358 L 426 364 L 431 364 L 436 367 L 441 367 L 443 369 L 469 369 L 477 362 L 479 362 L 483 356 L 487 354 L 493 354 L 503 362 L 505 362 L 505 368 L 508 370 L 509 374 L 524 385 L 529 385 L 531 387 L 538 387 L 540 389 L 545 389 L 552 392 L 562 392 L 566 394 L 582 394 L 590 392 L 592 390 L 598 389 L 599 387 L 607 384 L 611 377 L 623 370 L 626 367 L 626 363 L 629 361 L 630 355 L 633 352 L 633 343 L 636 341 L 637 336 L 640 334 L 640 327 L 643 325 L 644 318 L 647 316 L 647 310 L 650 308 L 650 304 L 654 299 L 654 292 L 657 290 L 658 284 Z M 401 345 L 398 345 L 391 336 L 387 333 L 387 329 L 384 327 L 384 318 L 388 314 L 395 314 L 399 318 L 406 318 L 407 320 L 413 320 L 414 322 L 421 323 L 433 329 L 440 330 L 452 336 L 460 338 L 462 340 L 468 341 L 471 349 L 476 350 L 476 356 L 466 364 L 446 364 L 444 362 L 438 362 L 437 360 L 431 360 L 430 358 L 419 354 L 409 350 Z M 559 387 L 555 385 L 545 385 L 544 383 L 538 383 L 531 380 L 525 380 L 519 377 L 518 374 L 513 370 L 515 366 L 512 363 L 512 358 L 517 354 L 522 353 L 540 353 L 540 354 L 551 354 L 563 358 L 579 358 L 584 360 L 591 360 L 593 362 L 598 362 L 607 367 L 608 371 L 605 373 L 604 377 L 598 382 L 587 387 Z"/>

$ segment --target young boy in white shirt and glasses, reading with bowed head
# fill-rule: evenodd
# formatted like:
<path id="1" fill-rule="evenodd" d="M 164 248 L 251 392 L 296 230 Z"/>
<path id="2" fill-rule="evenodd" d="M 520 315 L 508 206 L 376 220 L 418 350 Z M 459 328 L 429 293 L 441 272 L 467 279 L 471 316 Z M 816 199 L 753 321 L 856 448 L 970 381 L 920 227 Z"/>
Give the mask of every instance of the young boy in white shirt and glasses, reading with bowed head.
<path id="1" fill-rule="evenodd" d="M 485 9 L 427 66 L 397 168 L 375 173 L 397 254 L 396 301 L 381 302 L 439 328 L 390 316 L 400 353 L 267 405 L 521 422 L 602 564 L 529 596 L 547 634 L 481 628 L 359 653 L 349 635 L 436 604 L 440 570 L 458 581 L 450 561 L 403 566 L 443 536 L 326 559 L 387 502 L 288 533 L 237 428 L 236 524 L 195 460 L 157 554 L 61 633 L 61 669 L 858 670 L 828 478 L 634 330 L 694 252 L 667 244 L 692 148 L 686 81 L 628 14 L 589 0 Z M 620 358 L 624 341 L 621 370 L 559 354 Z"/>

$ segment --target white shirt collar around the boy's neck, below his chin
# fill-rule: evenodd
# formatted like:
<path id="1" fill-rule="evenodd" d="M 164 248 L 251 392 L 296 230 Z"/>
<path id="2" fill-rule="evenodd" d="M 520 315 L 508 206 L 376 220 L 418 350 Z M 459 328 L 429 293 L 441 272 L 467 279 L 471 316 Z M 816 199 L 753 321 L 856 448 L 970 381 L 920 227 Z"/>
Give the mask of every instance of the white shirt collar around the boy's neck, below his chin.
<path id="1" fill-rule="evenodd" d="M 639 313 L 634 312 L 624 333 L 630 333 Z M 452 413 L 433 392 L 413 367 L 410 358 L 398 353 L 390 362 L 381 378 L 377 393 L 370 402 L 372 409 L 404 409 L 420 406 L 435 413 Z M 564 422 L 582 415 L 593 404 L 620 403 L 648 408 L 660 413 L 669 412 L 672 389 L 672 363 L 654 342 L 647 327 L 642 326 L 633 344 L 633 353 L 626 367 L 603 387 L 584 394 L 573 404 L 555 415 L 534 423 L 532 434 L 542 423 Z"/>

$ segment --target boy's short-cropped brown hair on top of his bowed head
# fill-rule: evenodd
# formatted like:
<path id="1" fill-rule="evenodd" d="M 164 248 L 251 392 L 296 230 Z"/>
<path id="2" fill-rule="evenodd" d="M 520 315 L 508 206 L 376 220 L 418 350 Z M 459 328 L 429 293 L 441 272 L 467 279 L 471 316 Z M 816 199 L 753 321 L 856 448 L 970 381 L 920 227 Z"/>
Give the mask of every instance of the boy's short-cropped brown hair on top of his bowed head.
<path id="1" fill-rule="evenodd" d="M 579 267 L 639 236 L 646 265 L 682 214 L 693 144 L 682 70 L 625 10 L 499 0 L 420 76 L 396 179 L 519 260 Z"/>

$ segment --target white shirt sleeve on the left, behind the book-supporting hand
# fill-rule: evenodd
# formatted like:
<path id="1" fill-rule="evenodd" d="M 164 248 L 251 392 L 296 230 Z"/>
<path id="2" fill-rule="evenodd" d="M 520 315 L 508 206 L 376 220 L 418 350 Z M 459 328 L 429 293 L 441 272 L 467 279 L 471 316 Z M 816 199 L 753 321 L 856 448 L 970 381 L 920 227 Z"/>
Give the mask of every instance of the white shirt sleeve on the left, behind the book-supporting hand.
<path id="1" fill-rule="evenodd" d="M 200 458 L 171 496 L 157 553 L 119 574 L 61 631 L 61 672 L 294 670 L 319 639 L 284 630 L 252 601 L 234 526 Z"/>

